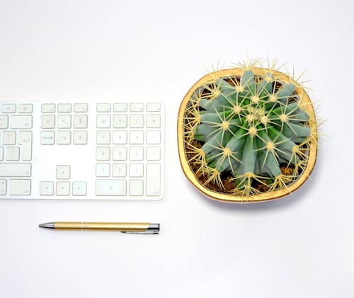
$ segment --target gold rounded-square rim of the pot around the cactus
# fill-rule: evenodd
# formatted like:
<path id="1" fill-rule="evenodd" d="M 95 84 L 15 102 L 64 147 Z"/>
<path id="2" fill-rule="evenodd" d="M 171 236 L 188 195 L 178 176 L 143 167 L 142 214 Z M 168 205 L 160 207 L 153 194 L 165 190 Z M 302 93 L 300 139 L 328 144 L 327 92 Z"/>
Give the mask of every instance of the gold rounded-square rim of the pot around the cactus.
<path id="1" fill-rule="evenodd" d="M 270 69 L 263 69 L 263 68 L 257 68 L 253 67 L 252 71 L 253 74 L 255 75 L 263 75 L 265 70 Z M 309 154 L 308 154 L 308 160 L 307 160 L 307 166 L 304 168 L 304 171 L 302 171 L 302 175 L 295 180 L 290 185 L 287 185 L 286 188 L 281 188 L 278 190 L 273 190 L 270 192 L 265 192 L 265 193 L 260 193 L 257 195 L 252 195 L 250 197 L 240 197 L 236 195 L 230 195 L 228 193 L 219 193 L 216 192 L 215 190 L 210 190 L 209 188 L 205 187 L 198 178 L 195 176 L 195 173 L 193 172 L 190 164 L 188 163 L 188 159 L 186 156 L 186 151 L 185 151 L 185 139 L 184 139 L 184 134 L 183 132 L 185 131 L 185 113 L 188 108 L 188 104 L 190 103 L 190 98 L 193 95 L 193 92 L 196 91 L 200 86 L 203 84 L 206 84 L 210 79 L 218 77 L 226 77 L 226 76 L 241 76 L 243 74 L 243 69 L 240 68 L 234 68 L 234 69 L 224 69 L 221 71 L 215 71 L 211 74 L 207 74 L 206 76 L 203 76 L 202 79 L 197 81 L 193 85 L 192 88 L 188 91 L 188 93 L 185 95 L 183 98 L 183 101 L 181 103 L 179 112 L 178 112 L 178 124 L 177 124 L 177 137 L 178 137 L 178 154 L 179 158 L 181 161 L 181 166 L 183 169 L 183 172 L 185 173 L 185 176 L 187 176 L 188 180 L 195 186 L 195 188 L 198 188 L 200 192 L 202 192 L 204 195 L 207 195 L 207 197 L 210 197 L 214 200 L 222 201 L 222 202 L 263 202 L 263 201 L 268 201 L 268 200 L 275 200 L 278 199 L 284 195 L 287 195 L 289 193 L 294 192 L 299 188 L 305 180 L 309 177 L 310 173 L 312 172 L 314 168 L 314 164 L 316 163 L 316 156 L 317 156 L 317 139 L 316 137 L 312 139 L 310 142 L 309 146 Z M 274 71 L 271 70 L 273 73 L 274 79 L 278 79 L 279 81 L 283 81 L 285 83 L 290 83 L 291 79 L 289 76 L 286 74 L 283 74 L 280 71 Z M 310 118 L 316 119 L 315 118 L 315 113 L 314 113 L 314 108 L 312 106 L 312 102 L 307 95 L 307 93 L 304 91 L 303 88 L 297 87 L 295 88 L 295 93 L 301 94 L 302 101 L 304 103 L 304 109 L 306 110 L 307 114 L 309 115 Z M 314 132 L 314 135 L 316 136 L 316 121 L 313 123 L 310 122 L 310 128 Z"/>

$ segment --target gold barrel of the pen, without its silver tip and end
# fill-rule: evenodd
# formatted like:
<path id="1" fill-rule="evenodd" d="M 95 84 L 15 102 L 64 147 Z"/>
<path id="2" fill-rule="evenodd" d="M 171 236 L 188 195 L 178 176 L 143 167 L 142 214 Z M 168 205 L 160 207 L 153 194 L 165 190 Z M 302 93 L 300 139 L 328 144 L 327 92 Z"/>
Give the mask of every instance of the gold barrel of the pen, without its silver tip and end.
<path id="1" fill-rule="evenodd" d="M 148 222 L 55 222 L 55 229 L 69 231 L 125 231 L 144 232 Z"/>

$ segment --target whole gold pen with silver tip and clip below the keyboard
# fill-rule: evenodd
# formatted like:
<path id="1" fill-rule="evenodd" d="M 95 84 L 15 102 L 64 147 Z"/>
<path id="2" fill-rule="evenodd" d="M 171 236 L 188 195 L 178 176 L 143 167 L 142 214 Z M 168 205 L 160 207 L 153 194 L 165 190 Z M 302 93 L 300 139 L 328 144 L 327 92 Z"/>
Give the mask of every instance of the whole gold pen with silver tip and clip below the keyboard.
<path id="1" fill-rule="evenodd" d="M 65 231 L 121 231 L 134 234 L 159 234 L 160 224 L 149 222 L 47 222 L 43 229 Z"/>

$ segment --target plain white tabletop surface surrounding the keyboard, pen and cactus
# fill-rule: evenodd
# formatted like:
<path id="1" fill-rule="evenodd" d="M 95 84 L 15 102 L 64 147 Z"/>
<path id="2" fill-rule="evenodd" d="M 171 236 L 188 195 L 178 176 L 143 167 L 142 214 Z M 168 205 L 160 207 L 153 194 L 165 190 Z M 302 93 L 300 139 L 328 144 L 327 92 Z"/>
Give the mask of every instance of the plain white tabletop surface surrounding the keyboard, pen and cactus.
<path id="1" fill-rule="evenodd" d="M 354 297 L 352 1 L 0 0 L 0 100 L 166 103 L 160 202 L 0 202 L 0 297 Z M 255 205 L 183 176 L 176 118 L 218 61 L 307 69 L 327 120 L 312 180 Z M 38 229 L 151 221 L 157 236 Z"/>

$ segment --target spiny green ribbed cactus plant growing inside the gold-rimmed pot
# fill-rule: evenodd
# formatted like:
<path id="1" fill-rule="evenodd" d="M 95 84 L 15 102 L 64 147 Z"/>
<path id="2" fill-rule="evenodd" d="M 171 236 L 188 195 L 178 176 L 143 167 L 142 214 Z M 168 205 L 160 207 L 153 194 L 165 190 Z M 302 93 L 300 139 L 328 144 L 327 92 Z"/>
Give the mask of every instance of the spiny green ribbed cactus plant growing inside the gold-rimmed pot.
<path id="1" fill-rule="evenodd" d="M 241 76 L 215 77 L 193 93 L 185 121 L 185 139 L 206 183 L 222 185 L 231 175 L 235 195 L 286 187 L 306 166 L 309 140 L 316 137 L 295 80 L 285 83 L 244 67 Z M 193 141 L 199 141 L 201 148 Z M 282 173 L 281 165 L 292 169 Z"/>

